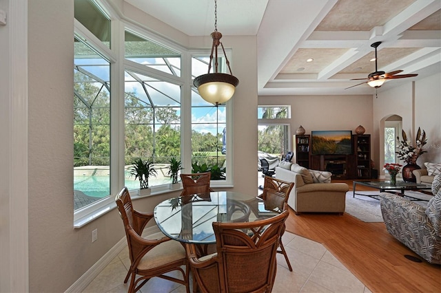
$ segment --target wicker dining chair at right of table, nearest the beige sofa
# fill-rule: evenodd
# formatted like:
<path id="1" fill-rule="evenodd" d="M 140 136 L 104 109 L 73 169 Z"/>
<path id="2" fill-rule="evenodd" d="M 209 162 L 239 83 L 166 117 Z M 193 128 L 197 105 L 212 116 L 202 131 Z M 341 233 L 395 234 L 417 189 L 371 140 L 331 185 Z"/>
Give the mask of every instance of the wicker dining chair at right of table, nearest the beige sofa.
<path id="1" fill-rule="evenodd" d="M 267 210 L 287 210 L 288 209 L 288 197 L 291 193 L 291 189 L 294 188 L 294 182 L 286 182 L 274 177 L 265 176 L 265 182 L 263 184 L 263 193 L 260 197 L 263 199 L 265 209 Z M 285 225 L 283 226 L 282 235 L 285 232 Z M 280 235 L 280 250 L 278 253 L 283 254 L 289 270 L 292 272 L 291 263 L 287 256 L 287 252 L 283 247 L 282 235 Z"/>

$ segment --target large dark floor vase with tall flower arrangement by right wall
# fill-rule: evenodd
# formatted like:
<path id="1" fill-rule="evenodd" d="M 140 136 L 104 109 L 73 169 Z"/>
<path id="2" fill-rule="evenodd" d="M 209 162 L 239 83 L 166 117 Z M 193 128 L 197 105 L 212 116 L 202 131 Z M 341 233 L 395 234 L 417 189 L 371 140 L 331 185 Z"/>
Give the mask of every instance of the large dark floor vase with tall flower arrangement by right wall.
<path id="1" fill-rule="evenodd" d="M 399 137 L 397 137 L 397 140 L 398 151 L 396 151 L 396 153 L 398 158 L 407 163 L 402 168 L 402 179 L 405 182 L 416 182 L 416 177 L 413 175 L 412 171 L 421 169 L 421 167 L 416 164 L 416 160 L 423 153 L 427 153 L 427 151 L 422 149 L 423 146 L 427 144 L 426 132 L 424 130 L 421 132 L 420 127 L 418 127 L 414 145 L 410 142 L 410 140 L 407 140 L 407 135 L 404 130 L 402 131 L 402 140 L 400 140 Z"/>

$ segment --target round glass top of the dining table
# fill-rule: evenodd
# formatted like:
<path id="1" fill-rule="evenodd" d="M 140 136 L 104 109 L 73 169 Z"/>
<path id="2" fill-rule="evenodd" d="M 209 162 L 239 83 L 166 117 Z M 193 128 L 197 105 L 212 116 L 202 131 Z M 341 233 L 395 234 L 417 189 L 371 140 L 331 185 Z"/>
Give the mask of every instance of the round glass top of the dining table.
<path id="1" fill-rule="evenodd" d="M 214 191 L 166 199 L 154 208 L 154 219 L 168 237 L 185 243 L 216 243 L 212 223 L 247 222 L 281 213 L 262 199 L 234 191 Z"/>

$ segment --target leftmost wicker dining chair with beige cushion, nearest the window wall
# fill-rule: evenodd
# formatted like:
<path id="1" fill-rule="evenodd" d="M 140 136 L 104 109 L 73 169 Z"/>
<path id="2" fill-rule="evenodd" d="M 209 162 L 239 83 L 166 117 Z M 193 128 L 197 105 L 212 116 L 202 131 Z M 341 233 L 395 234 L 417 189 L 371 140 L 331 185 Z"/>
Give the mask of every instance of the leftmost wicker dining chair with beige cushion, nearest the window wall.
<path id="1" fill-rule="evenodd" d="M 153 213 L 141 213 L 134 210 L 127 187 L 116 195 L 115 201 L 123 219 L 129 248 L 130 268 L 124 279 L 124 283 L 127 283 L 132 275 L 128 292 L 137 292 L 149 279 L 157 276 L 185 285 L 189 293 L 189 265 L 183 245 L 165 237 L 162 233 L 146 238 L 141 237 L 145 225 L 154 216 Z M 185 271 L 183 266 L 185 266 Z M 183 280 L 165 275 L 174 270 L 183 274 Z M 136 275 L 140 277 L 136 279 Z M 138 285 L 139 282 L 141 283 Z"/>

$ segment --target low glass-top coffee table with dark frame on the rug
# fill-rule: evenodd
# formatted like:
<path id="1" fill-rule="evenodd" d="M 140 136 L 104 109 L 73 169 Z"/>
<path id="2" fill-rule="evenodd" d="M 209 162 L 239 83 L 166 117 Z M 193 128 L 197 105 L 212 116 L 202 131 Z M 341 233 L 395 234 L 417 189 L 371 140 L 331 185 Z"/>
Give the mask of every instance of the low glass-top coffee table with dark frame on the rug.
<path id="1" fill-rule="evenodd" d="M 369 196 L 375 199 L 378 199 L 378 195 L 365 195 L 362 193 L 356 193 L 356 185 L 363 185 L 363 186 L 369 186 L 371 188 L 376 188 L 380 190 L 380 193 L 384 191 L 400 191 L 398 195 L 411 197 L 409 195 L 404 195 L 404 191 L 424 191 L 424 190 L 430 190 L 432 186 L 430 184 L 422 184 L 422 183 L 415 183 L 415 182 L 404 182 L 404 181 L 397 181 L 396 184 L 391 184 L 389 181 L 354 181 L 352 184 L 353 188 L 353 195 L 352 197 L 356 197 L 356 195 L 364 195 Z M 416 197 L 411 197 L 413 200 L 424 200 L 424 199 L 418 199 Z"/>

